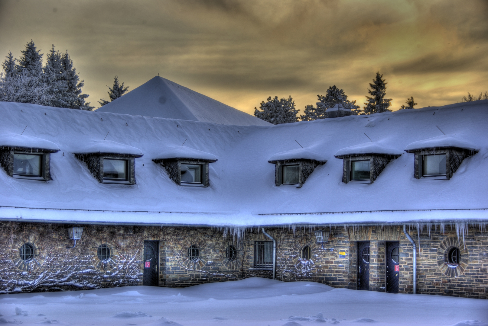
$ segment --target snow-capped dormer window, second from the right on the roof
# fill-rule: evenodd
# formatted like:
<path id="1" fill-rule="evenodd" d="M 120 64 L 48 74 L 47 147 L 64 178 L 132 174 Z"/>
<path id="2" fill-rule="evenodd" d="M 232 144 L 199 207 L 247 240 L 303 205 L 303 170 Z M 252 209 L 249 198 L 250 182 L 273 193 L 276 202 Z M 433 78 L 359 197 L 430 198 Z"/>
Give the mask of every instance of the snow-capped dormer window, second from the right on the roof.
<path id="1" fill-rule="evenodd" d="M 343 159 L 342 182 L 373 183 L 386 165 L 401 154 L 381 143 L 369 142 L 344 148 L 334 156 Z"/>

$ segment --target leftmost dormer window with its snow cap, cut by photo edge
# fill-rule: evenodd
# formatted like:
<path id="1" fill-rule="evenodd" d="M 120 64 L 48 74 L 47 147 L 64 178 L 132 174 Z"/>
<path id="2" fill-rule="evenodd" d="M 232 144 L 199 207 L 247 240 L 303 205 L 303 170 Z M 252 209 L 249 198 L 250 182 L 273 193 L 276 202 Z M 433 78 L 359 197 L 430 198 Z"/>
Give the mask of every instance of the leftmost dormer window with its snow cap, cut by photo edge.
<path id="1" fill-rule="evenodd" d="M 51 180 L 51 153 L 59 151 L 56 144 L 27 135 L 0 135 L 0 164 L 5 172 L 17 179 Z M 22 146 L 20 146 L 22 145 Z"/>

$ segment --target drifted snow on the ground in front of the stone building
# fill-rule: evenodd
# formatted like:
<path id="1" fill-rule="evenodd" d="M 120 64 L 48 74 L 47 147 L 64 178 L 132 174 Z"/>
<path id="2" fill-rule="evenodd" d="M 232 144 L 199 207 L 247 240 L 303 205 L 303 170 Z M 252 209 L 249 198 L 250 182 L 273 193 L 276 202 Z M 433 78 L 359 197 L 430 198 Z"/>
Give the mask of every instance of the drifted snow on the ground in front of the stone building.
<path id="1" fill-rule="evenodd" d="M 190 288 L 4 294 L 0 324 L 488 326 L 488 300 L 390 294 L 264 278 Z"/>

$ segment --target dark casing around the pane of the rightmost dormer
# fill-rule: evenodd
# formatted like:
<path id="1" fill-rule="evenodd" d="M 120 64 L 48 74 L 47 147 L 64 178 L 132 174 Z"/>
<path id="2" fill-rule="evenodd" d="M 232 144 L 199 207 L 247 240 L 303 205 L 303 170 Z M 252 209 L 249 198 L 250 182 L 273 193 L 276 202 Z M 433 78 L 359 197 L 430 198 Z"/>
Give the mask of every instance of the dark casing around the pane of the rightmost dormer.
<path id="1" fill-rule="evenodd" d="M 424 148 L 420 150 L 407 151 L 407 153 L 414 153 L 414 174 L 417 179 L 426 178 L 430 176 L 423 176 L 423 161 L 424 155 L 439 155 L 446 154 L 446 176 L 432 176 L 443 180 L 449 180 L 452 175 L 459 168 L 461 163 L 468 156 L 474 155 L 477 151 L 467 150 L 457 147 L 444 147 L 444 148 Z"/>

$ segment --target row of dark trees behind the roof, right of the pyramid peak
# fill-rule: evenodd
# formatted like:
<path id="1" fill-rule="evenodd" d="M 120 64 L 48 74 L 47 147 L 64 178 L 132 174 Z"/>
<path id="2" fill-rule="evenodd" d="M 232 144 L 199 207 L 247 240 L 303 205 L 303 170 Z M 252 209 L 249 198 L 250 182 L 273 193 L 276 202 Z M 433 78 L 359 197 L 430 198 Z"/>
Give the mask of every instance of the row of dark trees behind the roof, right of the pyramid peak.
<path id="1" fill-rule="evenodd" d="M 260 119 L 271 122 L 272 124 L 310 121 L 327 118 L 327 109 L 333 108 L 336 104 L 340 104 L 343 108 L 351 110 L 352 115 L 371 115 L 374 113 L 382 113 L 391 111 L 392 98 L 386 98 L 386 79 L 383 79 L 383 74 L 376 73 L 376 77 L 372 83 L 369 83 L 368 95 L 366 95 L 366 103 L 361 110 L 361 107 L 356 104 L 356 101 L 347 99 L 347 95 L 343 89 L 339 89 L 336 85 L 329 86 L 325 96 L 317 95 L 318 102 L 315 104 L 305 105 L 303 115 L 297 116 L 299 109 L 295 108 L 295 101 L 289 96 L 278 99 L 278 96 L 272 98 L 269 96 L 266 102 L 262 101 L 259 109 L 254 107 L 254 115 Z M 468 93 L 468 97 L 464 96 L 461 100 L 463 102 L 470 102 L 474 100 L 488 99 L 488 92 L 480 94 L 480 96 L 472 96 Z M 402 105 L 399 110 L 413 109 L 417 103 L 413 96 L 407 98 L 407 105 Z"/>

